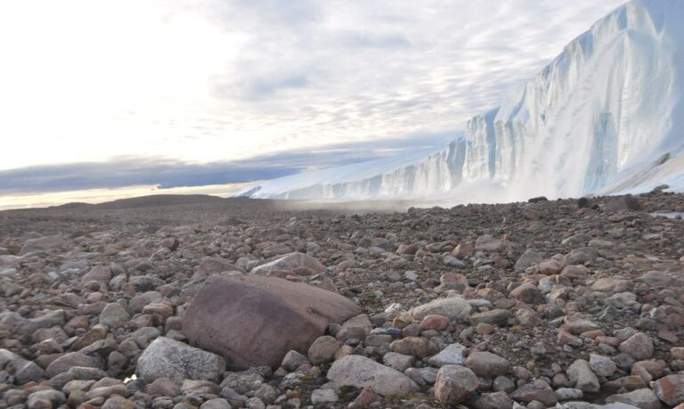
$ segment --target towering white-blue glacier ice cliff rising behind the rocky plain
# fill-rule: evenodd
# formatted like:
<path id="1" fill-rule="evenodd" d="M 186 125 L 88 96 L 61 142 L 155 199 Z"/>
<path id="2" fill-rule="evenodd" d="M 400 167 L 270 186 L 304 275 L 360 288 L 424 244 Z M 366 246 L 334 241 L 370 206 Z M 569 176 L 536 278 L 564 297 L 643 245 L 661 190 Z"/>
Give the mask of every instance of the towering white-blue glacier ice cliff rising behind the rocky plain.
<path id="1" fill-rule="evenodd" d="M 633 0 L 442 151 L 287 176 L 256 198 L 440 198 L 684 189 L 684 1 Z"/>

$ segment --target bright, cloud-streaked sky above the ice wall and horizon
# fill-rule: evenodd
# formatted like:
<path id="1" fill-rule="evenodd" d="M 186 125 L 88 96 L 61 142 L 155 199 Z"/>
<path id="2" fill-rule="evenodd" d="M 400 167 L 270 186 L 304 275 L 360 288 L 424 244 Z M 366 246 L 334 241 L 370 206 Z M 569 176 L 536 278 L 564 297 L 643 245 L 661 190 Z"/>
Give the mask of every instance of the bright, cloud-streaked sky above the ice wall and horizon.
<path id="1" fill-rule="evenodd" d="M 0 195 L 238 184 L 439 146 L 620 4 L 0 2 Z"/>

